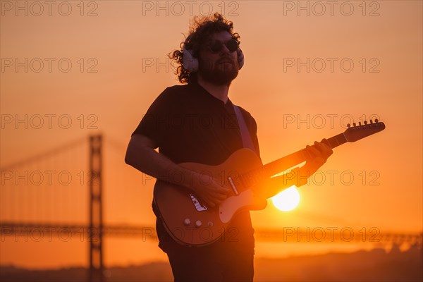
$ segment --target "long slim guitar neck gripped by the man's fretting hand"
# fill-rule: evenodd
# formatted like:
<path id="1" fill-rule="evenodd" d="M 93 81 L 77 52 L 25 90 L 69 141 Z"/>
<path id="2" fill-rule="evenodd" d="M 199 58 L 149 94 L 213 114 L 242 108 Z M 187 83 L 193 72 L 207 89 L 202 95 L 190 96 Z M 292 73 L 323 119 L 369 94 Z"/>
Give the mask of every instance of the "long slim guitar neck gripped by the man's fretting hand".
<path id="1" fill-rule="evenodd" d="M 347 142 L 343 133 L 330 137 L 326 140 L 326 144 L 329 145 L 332 149 L 338 147 L 339 145 L 343 145 Z M 254 171 L 249 171 L 243 174 L 243 179 L 245 180 L 248 185 L 254 185 L 255 183 L 259 183 L 266 178 L 270 178 L 277 173 L 281 173 L 281 171 L 285 171 L 286 169 L 301 164 L 303 161 L 306 161 L 311 157 L 307 149 L 300 149 L 299 151 L 288 154 L 281 159 L 276 159 L 276 161 L 271 161 L 269 164 L 265 164 L 259 169 Z"/>

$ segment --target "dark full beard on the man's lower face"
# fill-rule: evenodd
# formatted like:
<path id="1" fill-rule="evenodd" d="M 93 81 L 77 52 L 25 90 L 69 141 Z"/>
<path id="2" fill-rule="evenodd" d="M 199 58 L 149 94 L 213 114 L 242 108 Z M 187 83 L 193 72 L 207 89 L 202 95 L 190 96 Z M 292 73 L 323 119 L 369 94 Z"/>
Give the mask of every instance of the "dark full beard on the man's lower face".
<path id="1" fill-rule="evenodd" d="M 230 85 L 232 80 L 238 76 L 238 63 L 230 57 L 225 57 L 212 64 L 207 61 L 200 61 L 198 74 L 215 85 Z"/>

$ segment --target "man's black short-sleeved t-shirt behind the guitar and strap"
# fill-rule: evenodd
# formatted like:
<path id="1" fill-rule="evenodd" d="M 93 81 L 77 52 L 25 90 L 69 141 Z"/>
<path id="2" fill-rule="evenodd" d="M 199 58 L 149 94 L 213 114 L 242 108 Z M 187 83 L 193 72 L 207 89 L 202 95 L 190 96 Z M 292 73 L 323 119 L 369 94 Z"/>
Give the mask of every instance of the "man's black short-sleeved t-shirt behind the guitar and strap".
<path id="1" fill-rule="evenodd" d="M 241 108 L 245 123 L 257 155 L 257 123 L 250 113 Z M 243 147 L 238 120 L 231 100 L 225 104 L 209 94 L 200 85 L 175 85 L 161 92 L 149 107 L 133 134 L 149 137 L 159 147 L 159 152 L 180 164 L 196 162 L 218 165 Z M 155 214 L 156 207 L 153 209 Z M 166 240 L 170 240 L 160 219 L 157 233 L 160 247 L 166 252 Z M 240 212 L 231 221 L 232 246 L 253 250 L 254 238 L 250 212 Z M 218 240 L 214 244 L 219 244 Z M 226 242 L 228 243 L 228 242 Z"/>

